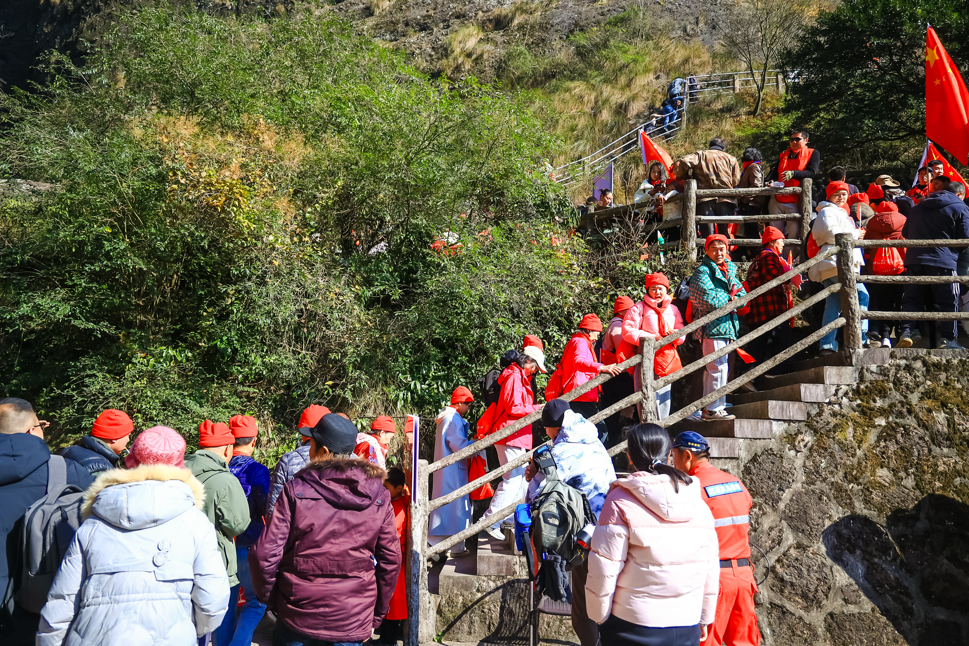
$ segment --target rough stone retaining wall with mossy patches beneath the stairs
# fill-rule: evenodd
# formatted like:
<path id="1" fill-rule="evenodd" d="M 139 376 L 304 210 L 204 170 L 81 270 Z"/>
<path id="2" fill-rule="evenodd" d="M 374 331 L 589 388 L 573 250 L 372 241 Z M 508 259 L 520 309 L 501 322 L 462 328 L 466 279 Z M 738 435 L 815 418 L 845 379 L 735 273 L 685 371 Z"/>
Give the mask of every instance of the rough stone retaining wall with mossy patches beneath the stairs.
<path id="1" fill-rule="evenodd" d="M 969 643 L 969 361 L 906 354 L 716 461 L 754 497 L 768 646 Z"/>

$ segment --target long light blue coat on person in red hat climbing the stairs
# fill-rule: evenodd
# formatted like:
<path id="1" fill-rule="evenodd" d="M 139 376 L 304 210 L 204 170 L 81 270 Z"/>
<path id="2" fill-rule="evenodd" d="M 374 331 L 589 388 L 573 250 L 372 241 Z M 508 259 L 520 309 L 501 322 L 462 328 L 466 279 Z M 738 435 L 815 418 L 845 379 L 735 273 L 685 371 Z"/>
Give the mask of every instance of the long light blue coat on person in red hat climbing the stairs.
<path id="1" fill-rule="evenodd" d="M 473 439 L 468 439 L 468 431 L 471 427 L 467 420 L 458 415 L 452 407 L 445 408 L 437 420 L 434 462 L 474 443 Z M 468 461 L 460 460 L 450 467 L 434 471 L 434 489 L 431 496 L 433 498 L 446 496 L 466 484 L 468 484 Z M 470 526 L 471 501 L 467 496 L 462 496 L 430 512 L 427 533 L 432 536 L 451 535 L 466 530 Z"/>

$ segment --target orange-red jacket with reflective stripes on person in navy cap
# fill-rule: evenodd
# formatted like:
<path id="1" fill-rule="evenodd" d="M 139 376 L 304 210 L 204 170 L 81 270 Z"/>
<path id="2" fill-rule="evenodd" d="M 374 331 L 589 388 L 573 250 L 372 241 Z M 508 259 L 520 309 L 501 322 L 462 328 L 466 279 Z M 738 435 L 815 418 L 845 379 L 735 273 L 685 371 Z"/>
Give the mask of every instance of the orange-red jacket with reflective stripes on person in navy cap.
<path id="1" fill-rule="evenodd" d="M 690 471 L 701 484 L 703 502 L 713 512 L 713 525 L 720 540 L 720 559 L 749 559 L 750 505 L 747 488 L 730 473 L 708 462 Z"/>

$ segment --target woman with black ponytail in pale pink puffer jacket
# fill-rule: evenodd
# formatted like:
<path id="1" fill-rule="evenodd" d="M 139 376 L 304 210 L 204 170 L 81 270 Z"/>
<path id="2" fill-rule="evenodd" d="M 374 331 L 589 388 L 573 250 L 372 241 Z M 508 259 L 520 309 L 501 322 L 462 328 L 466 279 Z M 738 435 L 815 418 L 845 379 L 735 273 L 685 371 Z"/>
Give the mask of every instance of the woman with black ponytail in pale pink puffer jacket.
<path id="1" fill-rule="evenodd" d="M 696 646 L 713 623 L 720 556 L 700 481 L 667 464 L 656 424 L 629 430 L 629 477 L 613 483 L 589 551 L 585 601 L 603 644 Z"/>

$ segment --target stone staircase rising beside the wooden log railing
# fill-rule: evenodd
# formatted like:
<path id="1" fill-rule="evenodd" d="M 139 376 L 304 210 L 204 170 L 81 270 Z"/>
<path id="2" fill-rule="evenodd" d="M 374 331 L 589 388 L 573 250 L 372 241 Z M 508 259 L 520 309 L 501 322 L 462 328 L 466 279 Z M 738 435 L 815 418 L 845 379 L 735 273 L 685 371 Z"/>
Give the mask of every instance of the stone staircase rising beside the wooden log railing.
<path id="1" fill-rule="evenodd" d="M 732 404 L 728 411 L 735 419 L 685 420 L 672 425 L 669 431 L 672 435 L 695 431 L 707 438 L 713 458 L 737 458 L 741 440 L 768 440 L 783 432 L 789 422 L 806 420 L 818 404 L 828 403 L 839 387 L 857 384 L 862 367 L 877 371 L 878 366 L 888 365 L 890 360 L 889 348 L 875 348 L 857 351 L 854 365 L 848 365 L 840 353 L 797 362 L 771 376 L 759 377 L 759 392 L 728 395 Z M 480 536 L 477 549 L 474 539 L 467 541 L 469 556 L 448 558 L 443 565 L 433 565 L 428 573 L 428 588 L 436 596 L 438 630 L 447 640 L 528 643 L 527 634 L 521 642 L 519 632 L 513 630 L 513 638 L 502 628 L 509 623 L 509 603 L 515 607 L 512 614 L 517 614 L 520 607 L 530 602 L 527 592 L 518 591 L 511 601 L 506 594 L 508 586 L 527 577 L 524 557 L 514 548 L 514 533 L 506 529 L 503 541 L 486 533 Z M 505 592 L 498 595 L 498 591 Z M 465 607 L 458 607 L 461 604 Z M 568 617 L 543 614 L 539 624 L 543 640 L 578 643 Z"/>

